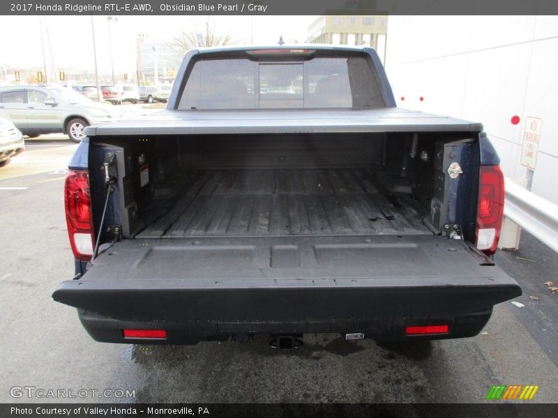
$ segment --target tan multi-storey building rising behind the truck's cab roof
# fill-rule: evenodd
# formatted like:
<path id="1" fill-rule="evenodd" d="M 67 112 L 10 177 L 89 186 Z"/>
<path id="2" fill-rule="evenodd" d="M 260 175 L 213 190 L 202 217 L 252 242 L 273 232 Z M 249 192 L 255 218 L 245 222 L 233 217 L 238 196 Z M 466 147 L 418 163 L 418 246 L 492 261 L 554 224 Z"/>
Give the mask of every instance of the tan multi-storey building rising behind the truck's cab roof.
<path id="1" fill-rule="evenodd" d="M 308 26 L 309 43 L 368 45 L 384 60 L 387 16 L 319 16 Z"/>

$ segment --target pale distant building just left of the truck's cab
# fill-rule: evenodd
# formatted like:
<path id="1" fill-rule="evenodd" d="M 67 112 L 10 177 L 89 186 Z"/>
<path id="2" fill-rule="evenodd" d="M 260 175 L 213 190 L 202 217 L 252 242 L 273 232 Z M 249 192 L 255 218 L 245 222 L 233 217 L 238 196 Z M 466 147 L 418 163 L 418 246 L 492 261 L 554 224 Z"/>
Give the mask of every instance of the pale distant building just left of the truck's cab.
<path id="1" fill-rule="evenodd" d="M 183 54 L 169 42 L 140 35 L 136 39 L 137 81 L 140 86 L 172 84 L 182 63 Z"/>

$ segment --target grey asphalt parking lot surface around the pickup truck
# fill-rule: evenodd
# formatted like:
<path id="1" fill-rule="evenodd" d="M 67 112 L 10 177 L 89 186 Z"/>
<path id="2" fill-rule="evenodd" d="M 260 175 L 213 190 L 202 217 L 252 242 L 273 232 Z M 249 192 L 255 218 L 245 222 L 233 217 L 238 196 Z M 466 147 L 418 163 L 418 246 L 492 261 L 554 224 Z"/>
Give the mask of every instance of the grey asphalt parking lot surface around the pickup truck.
<path id="1" fill-rule="evenodd" d="M 77 145 L 48 135 L 26 146 L 0 169 L 0 402 L 477 403 L 492 385 L 538 385 L 529 402 L 558 402 L 558 294 L 545 285 L 558 283 L 558 256 L 525 233 L 519 251 L 497 256 L 522 286 L 513 302 L 523 306 L 497 305 L 471 339 L 378 346 L 318 334 L 279 352 L 264 336 L 196 346 L 96 343 L 75 309 L 51 297 L 73 276 L 62 187 Z M 13 387 L 87 396 L 15 397 Z"/>

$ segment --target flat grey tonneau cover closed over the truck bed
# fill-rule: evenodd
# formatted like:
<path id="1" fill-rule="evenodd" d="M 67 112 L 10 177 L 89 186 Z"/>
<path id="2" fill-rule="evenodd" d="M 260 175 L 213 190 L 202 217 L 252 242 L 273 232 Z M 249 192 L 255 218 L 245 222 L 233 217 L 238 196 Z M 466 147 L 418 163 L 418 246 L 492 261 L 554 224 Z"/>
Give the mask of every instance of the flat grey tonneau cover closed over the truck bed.
<path id="1" fill-rule="evenodd" d="M 89 137 L 149 134 L 481 132 L 483 125 L 396 107 L 386 109 L 165 110 L 86 127 Z"/>

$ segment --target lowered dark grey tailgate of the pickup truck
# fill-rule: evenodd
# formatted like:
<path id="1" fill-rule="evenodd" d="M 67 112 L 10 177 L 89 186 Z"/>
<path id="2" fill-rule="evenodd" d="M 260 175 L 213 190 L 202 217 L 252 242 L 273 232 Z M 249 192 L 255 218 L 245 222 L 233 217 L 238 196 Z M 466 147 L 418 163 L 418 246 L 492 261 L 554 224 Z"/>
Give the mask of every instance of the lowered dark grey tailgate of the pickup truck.
<path id="1" fill-rule="evenodd" d="M 354 325 L 455 317 L 518 295 L 467 242 L 392 235 L 125 240 L 53 297 L 119 320 Z"/>

